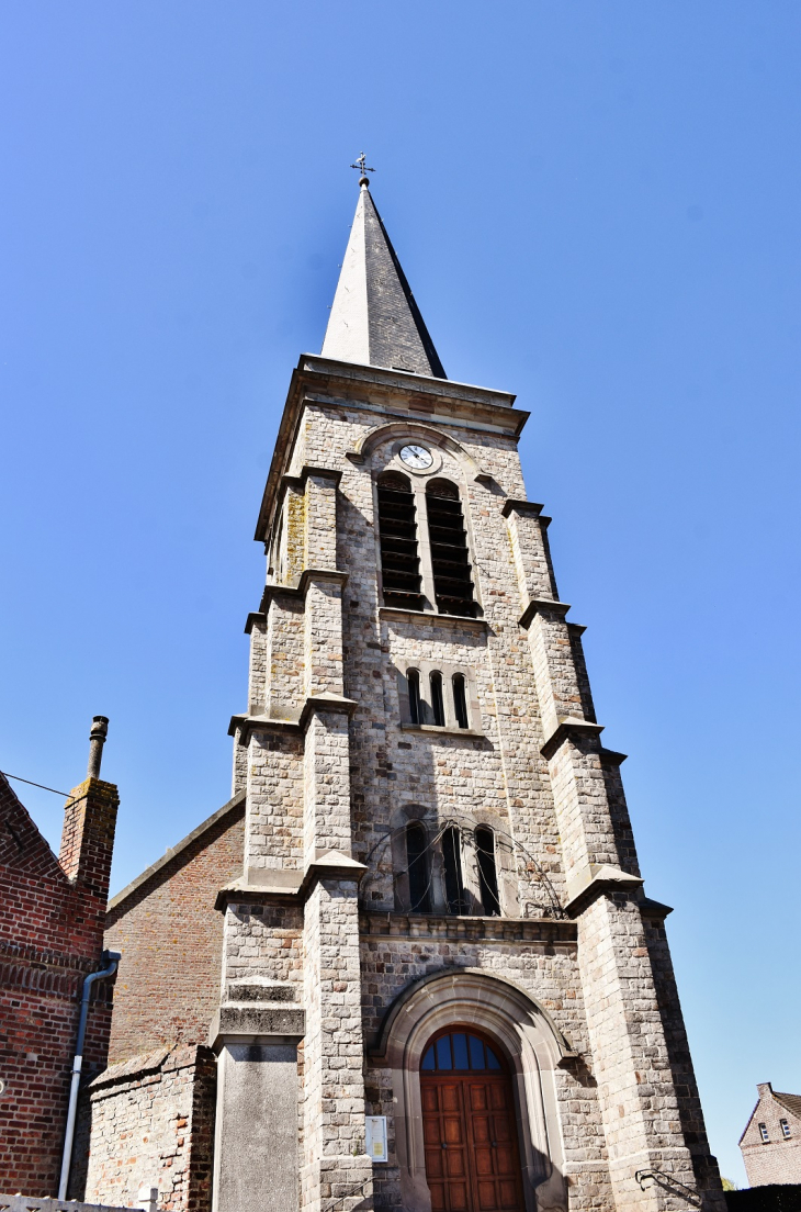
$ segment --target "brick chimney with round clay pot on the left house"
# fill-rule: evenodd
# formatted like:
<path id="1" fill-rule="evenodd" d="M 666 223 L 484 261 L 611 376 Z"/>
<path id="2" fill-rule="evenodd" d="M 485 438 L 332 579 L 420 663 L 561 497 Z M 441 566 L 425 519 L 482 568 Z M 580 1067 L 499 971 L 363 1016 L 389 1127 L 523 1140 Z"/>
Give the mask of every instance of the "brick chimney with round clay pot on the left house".
<path id="1" fill-rule="evenodd" d="M 92 720 L 87 777 L 71 790 L 64 805 L 58 854 L 58 862 L 73 884 L 103 904 L 108 899 L 116 810 L 120 804 L 116 785 L 104 783 L 99 777 L 108 722 L 104 715 L 96 715 Z"/>

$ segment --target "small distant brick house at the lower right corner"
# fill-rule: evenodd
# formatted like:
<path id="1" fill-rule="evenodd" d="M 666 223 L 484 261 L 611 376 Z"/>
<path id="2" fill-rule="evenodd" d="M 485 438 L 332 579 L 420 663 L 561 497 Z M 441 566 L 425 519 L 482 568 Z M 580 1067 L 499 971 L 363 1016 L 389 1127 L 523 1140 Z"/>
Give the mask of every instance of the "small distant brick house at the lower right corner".
<path id="1" fill-rule="evenodd" d="M 801 1094 L 780 1094 L 769 1081 L 756 1088 L 760 1100 L 739 1142 L 748 1180 L 801 1183 Z"/>

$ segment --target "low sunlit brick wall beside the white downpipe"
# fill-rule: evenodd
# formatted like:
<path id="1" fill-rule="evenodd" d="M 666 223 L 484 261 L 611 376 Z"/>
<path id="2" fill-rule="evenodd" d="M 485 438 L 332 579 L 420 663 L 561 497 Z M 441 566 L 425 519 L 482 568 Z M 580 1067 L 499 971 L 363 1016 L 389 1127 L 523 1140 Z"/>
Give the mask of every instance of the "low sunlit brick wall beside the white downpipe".
<path id="1" fill-rule="evenodd" d="M 71 1194 L 130 1206 L 141 1187 L 158 1187 L 159 1208 L 206 1212 L 214 1075 L 213 1053 L 195 1045 L 161 1048 L 101 1074 L 81 1107 Z"/>

